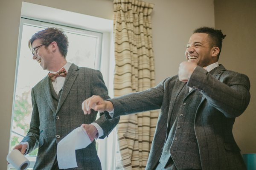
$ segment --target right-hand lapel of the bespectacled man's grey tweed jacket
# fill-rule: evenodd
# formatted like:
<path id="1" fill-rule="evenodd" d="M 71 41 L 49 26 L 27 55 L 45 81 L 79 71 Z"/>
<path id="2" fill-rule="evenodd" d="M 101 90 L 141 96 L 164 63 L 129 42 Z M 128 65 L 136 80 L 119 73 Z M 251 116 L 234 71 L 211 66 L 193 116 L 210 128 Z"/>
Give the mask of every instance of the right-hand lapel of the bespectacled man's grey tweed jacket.
<path id="1" fill-rule="evenodd" d="M 60 96 L 60 99 L 59 99 L 59 102 L 58 102 L 58 107 L 57 107 L 57 110 L 56 110 L 56 113 L 58 113 L 58 111 L 60 110 L 61 106 L 63 105 L 65 99 L 67 98 L 67 95 L 69 94 L 70 92 L 70 89 L 73 85 L 73 83 L 75 82 L 76 80 L 76 77 L 78 75 L 77 71 L 79 70 L 78 66 L 75 65 L 75 64 L 72 64 L 67 72 L 67 77 L 65 79 L 65 82 L 64 82 L 64 85 L 62 87 L 62 90 L 61 90 L 61 96 Z"/>

